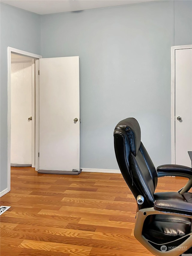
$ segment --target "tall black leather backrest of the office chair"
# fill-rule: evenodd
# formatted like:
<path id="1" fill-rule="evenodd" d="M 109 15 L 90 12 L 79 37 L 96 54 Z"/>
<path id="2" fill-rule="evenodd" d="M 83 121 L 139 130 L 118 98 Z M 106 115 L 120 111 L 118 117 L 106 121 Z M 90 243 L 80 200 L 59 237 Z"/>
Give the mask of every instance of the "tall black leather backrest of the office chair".
<path id="1" fill-rule="evenodd" d="M 134 197 L 144 197 L 138 208 L 153 206 L 157 172 L 143 143 L 140 126 L 135 118 L 120 121 L 114 131 L 114 146 L 121 173 Z"/>

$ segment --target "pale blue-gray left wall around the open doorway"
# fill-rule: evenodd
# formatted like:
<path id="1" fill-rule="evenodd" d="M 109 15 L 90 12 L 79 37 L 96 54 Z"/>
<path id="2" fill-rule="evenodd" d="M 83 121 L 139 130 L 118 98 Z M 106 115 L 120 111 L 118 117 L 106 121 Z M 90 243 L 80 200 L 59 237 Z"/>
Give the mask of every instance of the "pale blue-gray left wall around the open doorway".
<path id="1" fill-rule="evenodd" d="M 7 188 L 7 47 L 40 54 L 40 16 L 1 3 L 1 191 Z"/>

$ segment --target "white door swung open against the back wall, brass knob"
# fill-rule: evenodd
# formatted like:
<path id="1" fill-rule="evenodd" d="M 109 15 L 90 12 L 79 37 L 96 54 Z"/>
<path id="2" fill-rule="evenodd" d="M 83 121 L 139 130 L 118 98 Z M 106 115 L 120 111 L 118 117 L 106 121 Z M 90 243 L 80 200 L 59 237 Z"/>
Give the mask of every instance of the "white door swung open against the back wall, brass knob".
<path id="1" fill-rule="evenodd" d="M 79 98 L 78 56 L 39 60 L 40 170 L 80 170 Z"/>

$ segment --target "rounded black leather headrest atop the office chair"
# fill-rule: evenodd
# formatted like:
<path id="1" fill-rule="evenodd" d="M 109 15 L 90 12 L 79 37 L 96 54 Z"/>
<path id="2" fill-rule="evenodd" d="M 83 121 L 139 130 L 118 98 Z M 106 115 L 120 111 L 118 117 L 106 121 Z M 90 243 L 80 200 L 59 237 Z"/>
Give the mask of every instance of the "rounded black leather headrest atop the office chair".
<path id="1" fill-rule="evenodd" d="M 126 118 L 120 121 L 115 129 L 122 129 L 126 132 L 130 144 L 130 151 L 136 156 L 141 145 L 141 129 L 137 120 L 133 117 Z"/>

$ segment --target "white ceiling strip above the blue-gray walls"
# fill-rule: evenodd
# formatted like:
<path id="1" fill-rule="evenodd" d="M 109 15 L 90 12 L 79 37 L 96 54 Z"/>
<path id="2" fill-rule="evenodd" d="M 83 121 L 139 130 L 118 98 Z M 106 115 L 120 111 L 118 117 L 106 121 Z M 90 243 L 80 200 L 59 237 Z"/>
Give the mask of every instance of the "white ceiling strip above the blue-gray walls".
<path id="1" fill-rule="evenodd" d="M 137 4 L 150 1 L 155 0 L 1 0 L 2 3 L 7 5 L 12 5 L 37 14 L 82 11 L 86 9 Z"/>

